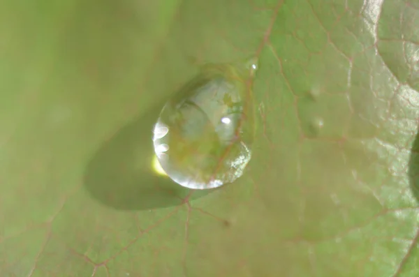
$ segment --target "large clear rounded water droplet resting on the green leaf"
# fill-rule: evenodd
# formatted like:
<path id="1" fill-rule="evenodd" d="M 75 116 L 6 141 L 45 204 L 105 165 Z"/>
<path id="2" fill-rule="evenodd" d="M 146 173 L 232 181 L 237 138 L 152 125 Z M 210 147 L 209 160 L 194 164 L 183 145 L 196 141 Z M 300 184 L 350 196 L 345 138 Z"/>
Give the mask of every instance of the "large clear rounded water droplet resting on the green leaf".
<path id="1" fill-rule="evenodd" d="M 208 64 L 161 110 L 154 151 L 168 177 L 192 189 L 217 188 L 241 177 L 251 159 L 251 84 L 257 60 Z"/>

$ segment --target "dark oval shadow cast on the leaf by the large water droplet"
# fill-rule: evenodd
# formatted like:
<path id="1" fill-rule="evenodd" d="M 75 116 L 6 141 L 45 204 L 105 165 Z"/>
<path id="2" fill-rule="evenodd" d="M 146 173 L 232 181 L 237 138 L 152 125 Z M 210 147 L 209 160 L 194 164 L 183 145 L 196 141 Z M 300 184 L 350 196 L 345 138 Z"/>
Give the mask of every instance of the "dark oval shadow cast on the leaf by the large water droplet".
<path id="1" fill-rule="evenodd" d="M 152 170 L 152 129 L 163 104 L 119 130 L 91 159 L 84 186 L 96 200 L 115 209 L 159 209 L 182 204 L 189 193 L 189 200 L 210 193 L 184 188 Z"/>

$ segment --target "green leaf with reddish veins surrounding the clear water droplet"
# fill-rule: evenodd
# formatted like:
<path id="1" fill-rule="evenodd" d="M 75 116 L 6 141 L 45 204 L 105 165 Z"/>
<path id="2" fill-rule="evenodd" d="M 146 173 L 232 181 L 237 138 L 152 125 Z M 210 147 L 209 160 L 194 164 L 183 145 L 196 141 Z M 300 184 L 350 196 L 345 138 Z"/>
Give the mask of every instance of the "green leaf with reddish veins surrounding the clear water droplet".
<path id="1" fill-rule="evenodd" d="M 419 275 L 419 1 L 3 1 L 1 276 Z M 256 55 L 247 172 L 193 192 L 151 131 Z"/>

